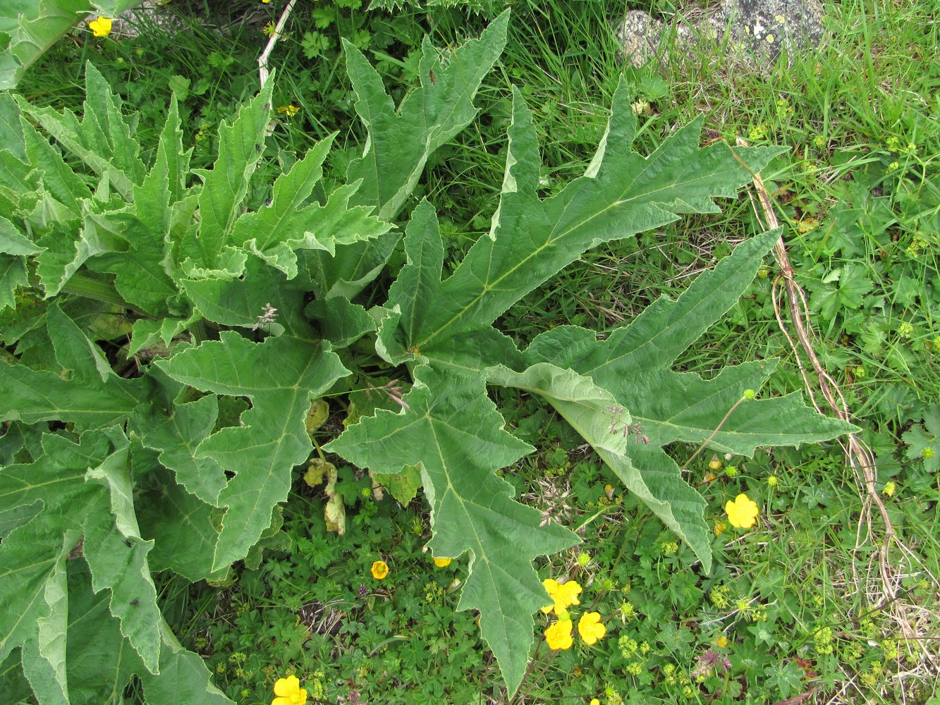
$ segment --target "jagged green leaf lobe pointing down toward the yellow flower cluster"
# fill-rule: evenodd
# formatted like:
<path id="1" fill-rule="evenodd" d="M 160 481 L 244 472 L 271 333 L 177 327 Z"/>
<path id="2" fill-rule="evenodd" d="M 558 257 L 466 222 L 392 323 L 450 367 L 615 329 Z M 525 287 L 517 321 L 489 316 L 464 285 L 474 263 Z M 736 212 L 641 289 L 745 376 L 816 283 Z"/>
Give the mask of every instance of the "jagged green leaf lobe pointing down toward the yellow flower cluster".
<path id="1" fill-rule="evenodd" d="M 531 615 L 546 599 L 532 559 L 578 538 L 558 525 L 540 526 L 539 512 L 514 502 L 511 485 L 495 474 L 531 447 L 503 429 L 485 384 L 482 374 L 416 368 L 406 409 L 379 411 L 324 447 L 378 473 L 421 464 L 434 530 L 429 545 L 435 556 L 471 553 L 458 609 L 479 610 L 483 637 L 512 693 L 532 645 Z"/>

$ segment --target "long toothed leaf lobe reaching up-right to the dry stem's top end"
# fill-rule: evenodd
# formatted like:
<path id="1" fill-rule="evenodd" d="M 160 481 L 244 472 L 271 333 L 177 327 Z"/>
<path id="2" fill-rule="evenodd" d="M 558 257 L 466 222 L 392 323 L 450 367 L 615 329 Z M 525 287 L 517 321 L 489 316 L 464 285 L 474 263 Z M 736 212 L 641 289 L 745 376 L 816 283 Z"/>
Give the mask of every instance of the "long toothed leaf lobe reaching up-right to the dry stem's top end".
<path id="1" fill-rule="evenodd" d="M 542 200 L 532 117 L 516 91 L 507 176 L 490 235 L 474 243 L 456 272 L 431 292 L 425 305 L 434 304 L 407 343 L 431 355 L 448 338 L 489 326 L 587 249 L 686 213 L 717 211 L 713 197 L 733 196 L 778 151 L 741 149 L 735 155 L 723 143 L 698 149 L 700 128 L 696 120 L 649 157 L 637 154 L 636 118 L 629 88 L 621 84 L 587 174 Z"/>

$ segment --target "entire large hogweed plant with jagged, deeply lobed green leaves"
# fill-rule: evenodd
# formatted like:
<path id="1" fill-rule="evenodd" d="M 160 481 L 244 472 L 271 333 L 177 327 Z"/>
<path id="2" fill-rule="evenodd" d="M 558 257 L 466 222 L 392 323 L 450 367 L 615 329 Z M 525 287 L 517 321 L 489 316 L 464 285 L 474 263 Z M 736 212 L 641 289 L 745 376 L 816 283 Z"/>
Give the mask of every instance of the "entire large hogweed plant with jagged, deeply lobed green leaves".
<path id="1" fill-rule="evenodd" d="M 368 130 L 361 157 L 325 194 L 331 140 L 322 140 L 257 211 L 243 201 L 263 152 L 270 82 L 222 124 L 213 168 L 193 172 L 176 102 L 143 164 L 133 117 L 90 65 L 81 118 L 0 95 L 0 302 L 15 308 L 0 361 L 4 692 L 103 702 L 136 676 L 149 703 L 176 703 L 180 692 L 227 702 L 164 622 L 151 575 L 218 579 L 235 561 L 257 560 L 293 469 L 311 455 L 311 405 L 334 389 L 367 388 L 380 359 L 408 390 L 399 411 L 364 417 L 323 449 L 379 482 L 420 468 L 432 555 L 466 560 L 459 609 L 479 610 L 510 694 L 525 673 L 532 614 L 546 603 L 532 560 L 578 538 L 541 525 L 497 475 L 533 448 L 506 431 L 488 384 L 555 407 L 705 571 L 705 503 L 664 446 L 707 440 L 751 455 L 853 430 L 795 395 L 741 402 L 773 360 L 710 380 L 670 369 L 734 304 L 776 232 L 742 243 L 678 300 L 658 300 L 603 340 L 564 326 L 520 351 L 493 325 L 587 249 L 716 211 L 714 196 L 733 196 L 777 153 L 698 149 L 696 122 L 641 156 L 629 86 L 616 93 L 585 175 L 546 199 L 532 119 L 513 92 L 492 227 L 441 280 L 437 215 L 409 194 L 429 155 L 475 117 L 474 94 L 508 22 L 504 13 L 451 53 L 426 40 L 421 86 L 398 108 L 346 44 Z M 405 264 L 389 273 L 384 304 L 367 308 L 358 295 L 400 243 Z"/>

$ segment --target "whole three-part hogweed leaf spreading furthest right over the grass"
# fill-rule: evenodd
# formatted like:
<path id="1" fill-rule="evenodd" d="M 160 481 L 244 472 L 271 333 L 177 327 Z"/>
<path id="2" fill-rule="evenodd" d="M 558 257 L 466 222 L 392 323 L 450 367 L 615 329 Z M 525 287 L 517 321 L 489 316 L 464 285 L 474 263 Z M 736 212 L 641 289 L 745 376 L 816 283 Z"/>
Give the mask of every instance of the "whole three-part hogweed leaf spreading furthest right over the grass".
<path id="1" fill-rule="evenodd" d="M 697 122 L 644 157 L 633 150 L 635 125 L 628 89 L 621 85 L 602 144 L 585 176 L 556 196 L 540 199 L 536 191 L 540 159 L 532 118 L 515 93 L 506 176 L 491 232 L 442 281 L 444 247 L 431 206 L 420 204 L 406 228 L 406 263 L 389 290 L 376 348 L 389 363 L 413 366 L 415 390 L 405 398 L 410 408 L 399 415 L 380 412 L 363 419 L 330 445 L 343 457 L 378 472 L 396 472 L 420 462 L 425 493 L 434 509 L 435 551 L 470 549 L 475 556 L 488 552 L 485 579 L 476 581 L 480 569 L 472 566 L 461 605 L 480 610 L 483 636 L 497 656 L 510 693 L 522 674 L 524 662 L 518 654 L 529 648 L 531 637 L 517 622 L 507 628 L 519 619 L 507 610 L 535 605 L 537 590 L 533 585 L 527 602 L 507 603 L 500 589 L 505 585 L 495 582 L 493 575 L 532 577 L 528 560 L 548 550 L 551 541 L 532 526 L 529 533 L 511 539 L 498 531 L 480 533 L 478 526 L 493 525 L 489 509 L 498 506 L 509 513 L 513 507 L 498 485 L 488 480 L 501 462 L 511 462 L 511 454 L 487 452 L 489 446 L 478 437 L 480 422 L 486 419 L 483 428 L 490 432 L 503 432 L 501 418 L 488 401 L 478 399 L 487 405 L 485 411 L 474 407 L 470 388 L 479 394 L 483 380 L 488 380 L 547 399 L 710 569 L 704 500 L 684 482 L 662 446 L 680 440 L 704 442 L 741 399 L 744 388 L 758 388 L 774 368 L 774 363 L 741 366 L 707 382 L 669 369 L 679 352 L 741 295 L 776 233 L 744 243 L 715 273 L 700 277 L 678 303 L 664 299 L 651 306 L 629 329 L 646 337 L 637 343 L 635 357 L 623 355 L 622 362 L 615 363 L 621 360 L 620 351 L 610 346 L 628 339 L 628 329 L 597 342 L 587 330 L 560 328 L 520 353 L 493 328 L 493 321 L 510 305 L 587 249 L 661 227 L 682 214 L 716 211 L 714 197 L 733 196 L 752 171 L 777 152 L 742 149 L 735 154 L 720 143 L 699 149 Z M 603 371 L 585 364 L 580 356 L 596 347 L 617 351 Z M 462 413 L 455 405 L 462 405 Z M 816 415 L 791 396 L 743 408 L 712 443 L 716 448 L 753 453 L 757 445 L 822 440 L 853 428 Z M 502 437 L 511 447 L 509 437 Z M 481 456 L 488 463 L 478 467 L 476 459 Z M 459 475 L 449 469 L 457 462 L 463 468 Z M 482 537 L 487 540 L 476 545 Z M 521 595 L 526 591 L 517 587 Z"/>

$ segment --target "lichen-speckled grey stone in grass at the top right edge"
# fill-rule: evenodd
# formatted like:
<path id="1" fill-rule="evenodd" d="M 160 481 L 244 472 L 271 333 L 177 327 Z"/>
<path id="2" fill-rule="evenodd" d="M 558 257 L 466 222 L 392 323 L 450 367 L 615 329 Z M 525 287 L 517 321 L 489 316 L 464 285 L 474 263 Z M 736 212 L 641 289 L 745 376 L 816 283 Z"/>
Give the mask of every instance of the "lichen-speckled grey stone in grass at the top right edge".
<path id="1" fill-rule="evenodd" d="M 783 48 L 792 54 L 819 46 L 823 6 L 820 0 L 721 0 L 710 11 L 677 15 L 677 21 L 669 25 L 634 10 L 619 24 L 617 36 L 623 55 L 635 66 L 659 53 L 661 44 L 687 51 L 704 40 L 766 67 Z"/>

